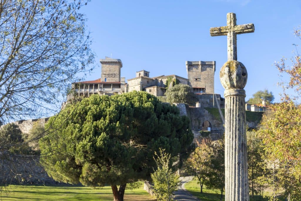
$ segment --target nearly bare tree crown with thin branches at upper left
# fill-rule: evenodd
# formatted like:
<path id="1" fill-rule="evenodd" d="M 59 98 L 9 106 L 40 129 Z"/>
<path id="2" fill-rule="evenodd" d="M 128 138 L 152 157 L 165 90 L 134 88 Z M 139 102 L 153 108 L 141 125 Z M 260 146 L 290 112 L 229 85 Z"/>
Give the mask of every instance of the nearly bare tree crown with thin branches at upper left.
<path id="1" fill-rule="evenodd" d="M 0 0 L 2 123 L 57 112 L 68 84 L 92 70 L 83 1 Z"/>

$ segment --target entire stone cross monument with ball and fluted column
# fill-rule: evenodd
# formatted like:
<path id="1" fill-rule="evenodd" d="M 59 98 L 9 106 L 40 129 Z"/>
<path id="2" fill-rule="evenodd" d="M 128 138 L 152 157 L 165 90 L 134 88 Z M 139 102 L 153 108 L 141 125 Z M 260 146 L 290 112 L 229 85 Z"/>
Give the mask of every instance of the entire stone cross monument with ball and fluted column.
<path id="1" fill-rule="evenodd" d="M 236 25 L 234 13 L 227 14 L 227 25 L 210 28 L 211 36 L 228 36 L 228 61 L 219 72 L 225 88 L 225 201 L 249 201 L 244 90 L 248 74 L 237 61 L 236 34 L 254 32 L 254 25 Z"/>

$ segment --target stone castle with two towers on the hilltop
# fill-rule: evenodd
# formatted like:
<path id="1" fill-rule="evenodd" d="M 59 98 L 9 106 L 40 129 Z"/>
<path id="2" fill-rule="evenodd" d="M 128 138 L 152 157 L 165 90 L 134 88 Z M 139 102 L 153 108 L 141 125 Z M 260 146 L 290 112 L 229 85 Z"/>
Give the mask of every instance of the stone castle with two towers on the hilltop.
<path id="1" fill-rule="evenodd" d="M 186 61 L 188 78 L 177 75 L 160 75 L 150 77 L 149 71 L 137 71 L 136 77 L 127 80 L 121 77 L 123 66 L 120 59 L 106 57 L 100 60 L 101 78 L 91 81 L 72 83 L 74 94 L 68 96 L 88 97 L 92 94 L 120 94 L 131 91 L 146 91 L 154 96 L 164 96 L 168 84 L 172 82 L 191 86 L 199 102 L 196 107 L 216 107 L 214 104 L 224 105 L 224 99 L 219 94 L 214 94 L 215 61 Z M 214 97 L 215 96 L 215 97 Z M 215 101 L 214 101 L 215 99 Z"/>

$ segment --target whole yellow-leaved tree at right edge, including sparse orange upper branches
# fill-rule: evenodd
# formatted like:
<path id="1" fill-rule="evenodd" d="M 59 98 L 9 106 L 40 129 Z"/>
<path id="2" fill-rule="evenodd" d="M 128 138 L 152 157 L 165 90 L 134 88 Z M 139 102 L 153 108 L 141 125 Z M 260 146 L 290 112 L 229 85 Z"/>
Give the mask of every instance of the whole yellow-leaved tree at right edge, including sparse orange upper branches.
<path id="1" fill-rule="evenodd" d="M 301 39 L 301 30 L 295 30 L 294 35 Z M 271 105 L 257 132 L 264 143 L 262 183 L 273 190 L 270 200 L 278 200 L 281 189 L 288 201 L 301 197 L 301 105 L 292 101 L 301 97 L 301 55 L 298 45 L 295 47 L 291 66 L 285 63 L 285 58 L 275 63 L 279 72 L 289 75 L 290 80 L 280 83 L 284 90 L 282 102 Z M 296 93 L 287 94 L 288 88 Z"/>

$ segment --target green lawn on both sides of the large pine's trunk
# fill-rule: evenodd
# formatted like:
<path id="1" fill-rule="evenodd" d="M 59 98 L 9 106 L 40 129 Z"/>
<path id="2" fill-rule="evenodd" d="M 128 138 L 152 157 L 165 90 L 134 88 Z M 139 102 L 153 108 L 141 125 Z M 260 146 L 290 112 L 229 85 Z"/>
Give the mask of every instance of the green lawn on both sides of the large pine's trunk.
<path id="1" fill-rule="evenodd" d="M 70 186 L 20 186 L 10 185 L 2 190 L 3 201 L 33 201 L 33 200 L 97 200 L 112 201 L 113 193 L 110 186 L 105 187 L 70 187 Z M 138 189 L 125 190 L 125 201 L 144 201 L 156 199 L 143 190 L 143 186 Z"/>

